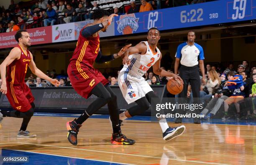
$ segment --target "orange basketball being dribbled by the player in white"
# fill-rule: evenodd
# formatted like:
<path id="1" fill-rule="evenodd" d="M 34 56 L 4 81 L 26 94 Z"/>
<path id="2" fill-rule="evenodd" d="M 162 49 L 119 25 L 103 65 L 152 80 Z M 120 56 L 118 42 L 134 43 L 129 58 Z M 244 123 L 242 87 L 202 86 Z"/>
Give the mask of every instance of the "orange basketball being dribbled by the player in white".
<path id="1" fill-rule="evenodd" d="M 173 94 L 173 95 L 177 95 L 179 94 L 180 92 L 182 92 L 183 90 L 183 83 L 182 81 L 177 78 L 176 80 L 174 78 L 170 79 L 168 82 L 167 82 L 167 90 Z"/>

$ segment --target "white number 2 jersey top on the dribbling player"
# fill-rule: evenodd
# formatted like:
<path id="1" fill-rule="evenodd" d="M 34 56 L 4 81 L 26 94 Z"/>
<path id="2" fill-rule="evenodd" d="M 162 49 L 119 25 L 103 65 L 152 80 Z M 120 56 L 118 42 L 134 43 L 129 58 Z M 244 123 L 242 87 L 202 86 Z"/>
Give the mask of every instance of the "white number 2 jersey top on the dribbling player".
<path id="1" fill-rule="evenodd" d="M 159 60 L 161 52 L 156 47 L 157 52 L 154 54 L 149 47 L 147 41 L 143 41 L 147 46 L 147 52 L 144 55 L 135 53 L 133 55 L 129 55 L 129 59 L 131 60 L 130 65 L 124 65 L 121 71 L 125 71 L 126 74 L 131 75 L 132 77 L 141 78 L 148 69 Z"/>

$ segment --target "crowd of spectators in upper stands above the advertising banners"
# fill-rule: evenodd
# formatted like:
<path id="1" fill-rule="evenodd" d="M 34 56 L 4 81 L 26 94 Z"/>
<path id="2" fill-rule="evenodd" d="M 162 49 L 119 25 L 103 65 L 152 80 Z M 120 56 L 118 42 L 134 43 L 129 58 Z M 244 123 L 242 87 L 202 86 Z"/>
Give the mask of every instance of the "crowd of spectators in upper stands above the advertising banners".
<path id="1" fill-rule="evenodd" d="M 123 15 L 207 1 L 210 0 L 38 0 L 15 4 L 11 0 L 8 9 L 0 7 L 0 32 L 90 20 L 93 10 L 100 8 Z"/>

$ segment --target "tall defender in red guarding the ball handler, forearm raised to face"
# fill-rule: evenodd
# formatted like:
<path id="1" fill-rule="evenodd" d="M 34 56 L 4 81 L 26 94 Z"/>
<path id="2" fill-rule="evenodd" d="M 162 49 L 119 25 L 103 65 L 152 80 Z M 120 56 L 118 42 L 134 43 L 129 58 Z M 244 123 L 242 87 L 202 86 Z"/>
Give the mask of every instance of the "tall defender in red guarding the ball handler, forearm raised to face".
<path id="1" fill-rule="evenodd" d="M 92 94 L 99 97 L 90 104 L 79 118 L 67 122 L 68 140 L 72 145 L 77 145 L 77 133 L 82 123 L 107 103 L 113 128 L 111 143 L 120 145 L 135 143 L 134 140 L 126 138 L 121 133 L 116 95 L 107 85 L 108 80 L 97 69 L 93 68 L 94 62 L 106 62 L 120 57 L 131 46 L 126 45 L 113 55 L 101 54 L 99 32 L 107 30 L 114 16 L 117 15 L 109 16 L 106 10 L 95 10 L 93 24 L 86 25 L 80 31 L 77 47 L 70 59 L 67 73 L 74 90 L 84 98 L 88 98 Z"/>

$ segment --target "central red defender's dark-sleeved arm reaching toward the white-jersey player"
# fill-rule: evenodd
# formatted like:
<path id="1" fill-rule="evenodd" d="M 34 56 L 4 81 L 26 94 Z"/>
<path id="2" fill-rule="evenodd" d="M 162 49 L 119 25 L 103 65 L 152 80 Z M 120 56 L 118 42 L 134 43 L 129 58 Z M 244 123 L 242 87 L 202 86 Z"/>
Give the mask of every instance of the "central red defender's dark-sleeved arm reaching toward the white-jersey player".
<path id="1" fill-rule="evenodd" d="M 131 44 L 129 45 L 125 45 L 124 47 L 122 47 L 122 49 L 118 52 L 118 53 L 115 53 L 113 55 L 102 55 L 102 52 L 99 51 L 98 55 L 97 55 L 97 58 L 95 59 L 95 62 L 97 63 L 103 63 L 103 62 L 108 62 L 108 61 L 111 61 L 111 60 L 114 60 L 118 57 L 121 57 L 121 55 L 123 55 L 123 53 L 129 48 L 131 47 Z"/>

